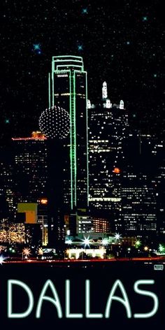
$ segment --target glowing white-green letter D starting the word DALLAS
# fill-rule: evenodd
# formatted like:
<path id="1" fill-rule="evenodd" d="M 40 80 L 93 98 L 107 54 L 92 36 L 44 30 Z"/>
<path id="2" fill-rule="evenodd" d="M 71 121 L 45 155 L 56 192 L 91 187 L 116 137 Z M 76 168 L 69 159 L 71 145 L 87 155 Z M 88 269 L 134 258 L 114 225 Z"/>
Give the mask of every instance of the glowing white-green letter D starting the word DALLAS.
<path id="1" fill-rule="evenodd" d="M 13 291 L 12 291 L 13 285 L 19 285 L 27 292 L 29 298 L 29 306 L 24 313 L 13 313 Z M 26 284 L 24 284 L 24 282 L 18 280 L 8 280 L 8 318 L 21 319 L 27 317 L 31 313 L 33 307 L 34 307 L 34 296 L 31 292 L 31 289 L 29 289 L 29 287 Z"/>

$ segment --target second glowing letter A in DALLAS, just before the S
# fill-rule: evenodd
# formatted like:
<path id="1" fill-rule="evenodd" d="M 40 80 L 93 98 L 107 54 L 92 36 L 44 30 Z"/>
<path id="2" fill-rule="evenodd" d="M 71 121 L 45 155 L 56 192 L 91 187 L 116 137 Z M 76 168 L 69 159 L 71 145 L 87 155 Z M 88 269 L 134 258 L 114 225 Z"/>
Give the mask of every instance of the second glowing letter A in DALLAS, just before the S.
<path id="1" fill-rule="evenodd" d="M 120 288 L 120 291 L 122 292 L 122 296 L 124 299 L 122 299 L 120 296 L 114 296 L 117 287 Z M 110 317 L 110 308 L 111 308 L 111 304 L 112 304 L 113 300 L 119 301 L 120 303 L 122 303 L 122 305 L 124 305 L 124 307 L 127 310 L 127 317 L 130 318 L 131 317 L 131 307 L 129 304 L 129 299 L 127 296 L 127 292 L 124 289 L 124 285 L 122 284 L 122 282 L 120 280 L 115 281 L 115 283 L 110 291 L 110 294 L 108 296 L 108 301 L 106 303 L 106 312 L 105 312 L 106 318 Z"/>

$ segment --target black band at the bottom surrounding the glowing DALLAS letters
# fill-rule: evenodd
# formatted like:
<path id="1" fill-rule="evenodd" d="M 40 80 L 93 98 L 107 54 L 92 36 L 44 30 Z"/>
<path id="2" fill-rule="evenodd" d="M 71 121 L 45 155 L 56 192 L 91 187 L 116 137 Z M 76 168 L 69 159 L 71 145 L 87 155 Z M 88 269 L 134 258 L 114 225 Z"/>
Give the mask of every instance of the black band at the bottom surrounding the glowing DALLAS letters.
<path id="1" fill-rule="evenodd" d="M 115 327 L 115 329 L 132 329 L 132 327 L 155 327 L 165 326 L 165 271 L 155 271 L 155 264 L 164 264 L 161 260 L 131 260 L 114 262 L 56 262 L 56 263 L 5 263 L 0 266 L 0 315 L 1 324 L 11 329 L 22 329 L 22 327 L 36 327 L 43 329 L 49 327 L 58 329 L 68 327 Z M 165 267 L 165 264 L 164 264 Z M 34 296 L 34 308 L 29 316 L 25 318 L 8 318 L 7 286 L 9 280 L 19 280 L 26 284 Z M 41 318 L 36 318 L 36 307 L 43 285 L 51 280 L 62 306 L 62 318 L 57 315 L 57 308 L 50 301 L 43 301 Z M 66 280 L 70 280 L 70 309 L 71 313 L 82 314 L 83 317 L 66 318 Z M 85 316 L 85 281 L 90 281 L 90 313 L 103 314 L 102 318 L 87 318 Z M 105 318 L 106 303 L 110 290 L 116 280 L 120 280 L 127 293 L 131 308 L 131 318 L 127 318 L 126 308 L 119 301 L 112 301 L 110 317 Z M 138 280 L 152 280 L 152 285 L 141 285 L 139 289 L 152 292 L 157 295 L 159 308 L 153 317 L 134 318 L 134 314 L 149 313 L 154 301 L 148 294 L 139 294 L 134 291 L 134 283 Z M 52 291 L 48 288 L 46 295 L 52 297 Z M 115 296 L 123 299 L 118 288 Z M 27 293 L 24 289 L 13 286 L 13 313 L 23 313 L 28 308 Z M 96 315 L 95 315 L 96 316 Z"/>

